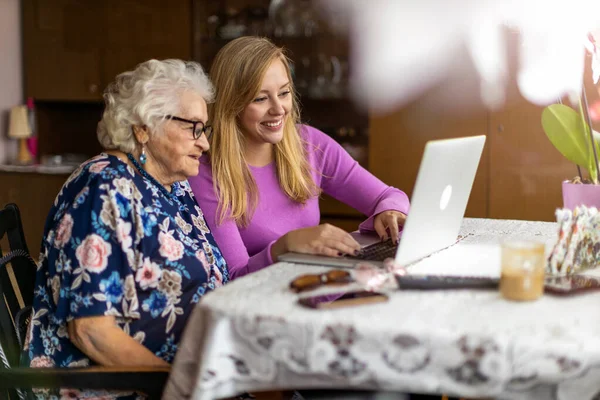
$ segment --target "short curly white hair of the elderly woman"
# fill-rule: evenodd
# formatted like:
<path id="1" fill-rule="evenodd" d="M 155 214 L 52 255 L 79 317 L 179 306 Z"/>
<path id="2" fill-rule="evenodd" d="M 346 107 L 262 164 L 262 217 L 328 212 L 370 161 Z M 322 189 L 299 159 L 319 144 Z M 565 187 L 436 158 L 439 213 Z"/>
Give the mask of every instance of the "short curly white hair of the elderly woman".
<path id="1" fill-rule="evenodd" d="M 136 147 L 134 126 L 146 126 L 151 135 L 162 133 L 166 115 L 181 111 L 183 92 L 214 100 L 214 87 L 200 64 L 181 60 L 148 60 L 133 71 L 117 75 L 104 91 L 104 114 L 98 123 L 98 140 L 107 150 L 125 153 Z"/>

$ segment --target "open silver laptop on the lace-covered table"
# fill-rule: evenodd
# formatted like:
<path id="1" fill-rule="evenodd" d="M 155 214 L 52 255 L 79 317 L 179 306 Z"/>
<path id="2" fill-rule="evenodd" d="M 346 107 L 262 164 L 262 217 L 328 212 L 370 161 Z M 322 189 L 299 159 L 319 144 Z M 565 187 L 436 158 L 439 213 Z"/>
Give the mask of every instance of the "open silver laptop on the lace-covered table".
<path id="1" fill-rule="evenodd" d="M 388 253 L 403 266 L 456 243 L 484 144 L 483 135 L 427 142 L 398 246 L 376 244 L 375 234 L 353 232 L 354 238 L 365 251 L 392 247 Z M 362 262 L 383 265 L 383 258 L 300 253 L 282 254 L 278 261 L 346 268 Z"/>

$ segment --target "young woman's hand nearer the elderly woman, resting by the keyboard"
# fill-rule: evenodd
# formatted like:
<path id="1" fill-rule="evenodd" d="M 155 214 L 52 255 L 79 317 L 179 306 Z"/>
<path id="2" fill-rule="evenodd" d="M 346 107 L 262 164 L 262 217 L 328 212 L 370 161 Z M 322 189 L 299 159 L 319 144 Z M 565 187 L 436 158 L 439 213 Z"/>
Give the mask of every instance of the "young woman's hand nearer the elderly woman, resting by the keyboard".
<path id="1" fill-rule="evenodd" d="M 356 254 L 360 251 L 360 244 L 343 229 L 321 224 L 286 233 L 271 247 L 271 257 L 276 260 L 279 255 L 289 251 L 339 257 Z"/>

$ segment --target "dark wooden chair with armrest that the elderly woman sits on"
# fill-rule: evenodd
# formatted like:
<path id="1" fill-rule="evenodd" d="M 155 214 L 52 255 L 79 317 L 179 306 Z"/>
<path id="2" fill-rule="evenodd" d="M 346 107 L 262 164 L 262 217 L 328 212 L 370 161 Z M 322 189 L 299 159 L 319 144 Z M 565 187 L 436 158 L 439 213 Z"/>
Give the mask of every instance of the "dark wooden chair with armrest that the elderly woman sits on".
<path id="1" fill-rule="evenodd" d="M 31 317 L 36 264 L 29 255 L 19 209 L 8 204 L 0 210 L 0 398 L 30 398 L 31 388 L 136 390 L 159 399 L 169 368 L 86 367 L 27 368 L 19 366 Z"/>

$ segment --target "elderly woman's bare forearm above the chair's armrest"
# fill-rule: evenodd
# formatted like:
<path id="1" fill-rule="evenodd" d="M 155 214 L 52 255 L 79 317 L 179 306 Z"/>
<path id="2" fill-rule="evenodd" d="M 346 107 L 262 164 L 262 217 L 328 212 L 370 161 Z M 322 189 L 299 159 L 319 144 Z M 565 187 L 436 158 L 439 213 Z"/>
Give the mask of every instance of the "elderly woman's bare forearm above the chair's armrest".
<path id="1" fill-rule="evenodd" d="M 123 332 L 113 316 L 77 318 L 69 321 L 67 330 L 71 342 L 100 365 L 169 365 Z"/>

